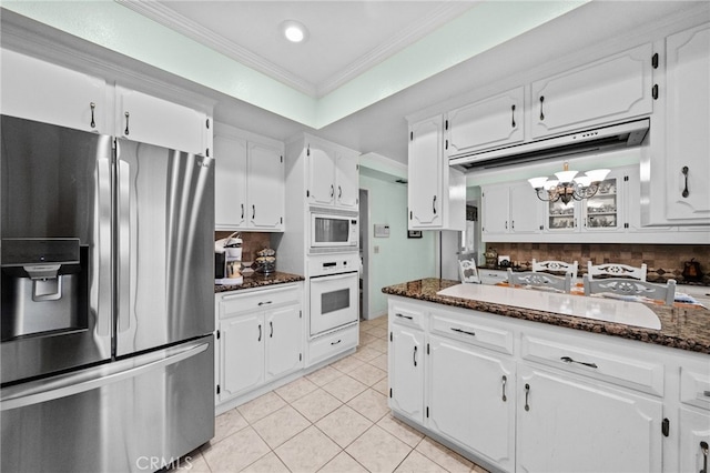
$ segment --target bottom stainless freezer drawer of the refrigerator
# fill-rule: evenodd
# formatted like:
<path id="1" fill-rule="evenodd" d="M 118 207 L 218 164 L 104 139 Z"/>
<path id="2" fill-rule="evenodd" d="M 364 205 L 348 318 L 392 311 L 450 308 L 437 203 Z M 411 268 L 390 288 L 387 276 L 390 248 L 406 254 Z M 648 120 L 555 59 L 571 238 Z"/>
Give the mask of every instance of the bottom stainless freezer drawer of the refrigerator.
<path id="1" fill-rule="evenodd" d="M 3 389 L 0 470 L 139 472 L 189 466 L 191 459 L 182 455 L 214 436 L 213 343 L 209 335 Z"/>

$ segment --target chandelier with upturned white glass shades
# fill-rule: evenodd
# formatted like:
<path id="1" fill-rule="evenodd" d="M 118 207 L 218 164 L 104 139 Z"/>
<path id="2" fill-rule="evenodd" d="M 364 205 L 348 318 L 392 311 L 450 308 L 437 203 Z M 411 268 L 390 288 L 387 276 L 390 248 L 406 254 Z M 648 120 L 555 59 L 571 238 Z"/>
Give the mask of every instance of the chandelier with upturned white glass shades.
<path id="1" fill-rule="evenodd" d="M 556 172 L 557 179 L 532 178 L 528 179 L 537 198 L 545 202 L 569 203 L 574 200 L 589 199 L 599 190 L 599 184 L 605 180 L 610 170 L 595 169 L 585 172 L 585 175 L 577 175 L 577 171 L 570 171 L 569 164 L 565 162 L 564 171 Z"/>

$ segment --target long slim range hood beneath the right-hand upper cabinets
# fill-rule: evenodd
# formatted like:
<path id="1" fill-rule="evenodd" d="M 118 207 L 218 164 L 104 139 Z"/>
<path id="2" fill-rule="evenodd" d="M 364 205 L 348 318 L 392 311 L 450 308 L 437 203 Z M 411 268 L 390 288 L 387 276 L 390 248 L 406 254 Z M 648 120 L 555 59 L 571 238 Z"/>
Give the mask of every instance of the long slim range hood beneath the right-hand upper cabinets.
<path id="1" fill-rule="evenodd" d="M 467 170 L 491 169 L 638 147 L 646 138 L 649 127 L 650 119 L 617 123 L 561 137 L 454 157 L 449 160 L 449 165 L 460 165 Z"/>

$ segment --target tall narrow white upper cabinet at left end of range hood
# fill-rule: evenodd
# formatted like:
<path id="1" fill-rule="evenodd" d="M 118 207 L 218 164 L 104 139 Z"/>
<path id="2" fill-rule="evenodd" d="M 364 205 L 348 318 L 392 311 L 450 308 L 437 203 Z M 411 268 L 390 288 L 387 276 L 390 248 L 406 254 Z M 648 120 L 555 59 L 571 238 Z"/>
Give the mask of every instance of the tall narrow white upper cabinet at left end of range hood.
<path id="1" fill-rule="evenodd" d="M 444 157 L 442 115 L 409 125 L 409 230 L 464 230 L 466 178 Z"/>

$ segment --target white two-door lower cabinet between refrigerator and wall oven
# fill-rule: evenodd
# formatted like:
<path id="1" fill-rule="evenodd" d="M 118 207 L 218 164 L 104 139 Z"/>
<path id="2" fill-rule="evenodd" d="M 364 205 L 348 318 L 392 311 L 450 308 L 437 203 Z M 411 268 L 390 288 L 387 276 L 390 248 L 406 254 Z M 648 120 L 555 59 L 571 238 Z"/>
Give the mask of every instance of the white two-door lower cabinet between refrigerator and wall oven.
<path id="1" fill-rule="evenodd" d="M 217 403 L 303 368 L 302 284 L 217 294 Z"/>

